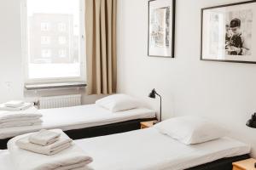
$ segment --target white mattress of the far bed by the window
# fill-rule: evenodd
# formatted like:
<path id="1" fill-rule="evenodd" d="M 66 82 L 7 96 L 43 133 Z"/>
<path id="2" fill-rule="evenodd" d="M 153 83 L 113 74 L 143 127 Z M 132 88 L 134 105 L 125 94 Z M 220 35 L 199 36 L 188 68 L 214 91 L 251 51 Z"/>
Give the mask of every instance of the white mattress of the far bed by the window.
<path id="1" fill-rule="evenodd" d="M 61 128 L 63 131 L 95 127 L 135 119 L 154 118 L 155 111 L 137 108 L 113 113 L 97 105 L 79 105 L 67 108 L 39 110 L 43 114 L 43 124 L 30 127 L 0 128 L 0 139 L 8 139 L 23 133 L 31 133 L 42 128 Z"/>

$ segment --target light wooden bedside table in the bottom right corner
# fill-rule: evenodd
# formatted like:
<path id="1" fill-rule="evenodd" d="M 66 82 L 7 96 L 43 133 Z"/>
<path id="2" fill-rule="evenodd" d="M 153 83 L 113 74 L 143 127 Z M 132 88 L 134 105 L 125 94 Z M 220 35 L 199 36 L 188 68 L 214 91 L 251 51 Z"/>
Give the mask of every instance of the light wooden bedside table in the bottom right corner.
<path id="1" fill-rule="evenodd" d="M 254 167 L 254 164 L 256 163 L 256 160 L 253 158 L 243 160 L 243 161 L 236 161 L 233 162 L 233 170 L 256 170 Z"/>

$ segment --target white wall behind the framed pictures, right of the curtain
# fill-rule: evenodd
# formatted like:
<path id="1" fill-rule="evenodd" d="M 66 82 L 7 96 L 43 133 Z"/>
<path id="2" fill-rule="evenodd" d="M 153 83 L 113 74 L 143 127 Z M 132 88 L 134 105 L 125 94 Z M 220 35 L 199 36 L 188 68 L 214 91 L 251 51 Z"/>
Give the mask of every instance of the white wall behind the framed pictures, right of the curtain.
<path id="1" fill-rule="evenodd" d="M 147 56 L 148 0 L 119 0 L 118 89 L 146 99 L 156 88 L 165 118 L 197 115 L 222 123 L 230 136 L 252 144 L 256 156 L 256 130 L 245 126 L 256 111 L 256 65 L 200 60 L 201 8 L 236 2 L 177 0 L 176 58 L 165 59 Z"/>

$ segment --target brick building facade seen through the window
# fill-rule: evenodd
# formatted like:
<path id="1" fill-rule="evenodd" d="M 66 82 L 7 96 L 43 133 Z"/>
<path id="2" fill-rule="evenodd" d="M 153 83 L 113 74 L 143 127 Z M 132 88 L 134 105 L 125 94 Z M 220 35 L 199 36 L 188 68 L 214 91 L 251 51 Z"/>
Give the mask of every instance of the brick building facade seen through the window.
<path id="1" fill-rule="evenodd" d="M 29 20 L 29 50 L 33 64 L 74 63 L 79 60 L 79 37 L 72 14 L 33 14 Z"/>

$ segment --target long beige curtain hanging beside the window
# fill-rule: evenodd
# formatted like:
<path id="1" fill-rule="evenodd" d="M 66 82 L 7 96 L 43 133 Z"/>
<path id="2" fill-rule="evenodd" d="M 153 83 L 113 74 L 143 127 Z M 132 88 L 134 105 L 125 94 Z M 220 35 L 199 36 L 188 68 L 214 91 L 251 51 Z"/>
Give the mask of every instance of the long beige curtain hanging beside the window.
<path id="1" fill-rule="evenodd" d="M 87 93 L 116 92 L 117 0 L 85 0 Z"/>

